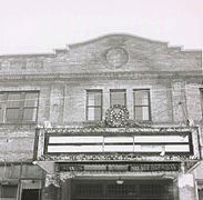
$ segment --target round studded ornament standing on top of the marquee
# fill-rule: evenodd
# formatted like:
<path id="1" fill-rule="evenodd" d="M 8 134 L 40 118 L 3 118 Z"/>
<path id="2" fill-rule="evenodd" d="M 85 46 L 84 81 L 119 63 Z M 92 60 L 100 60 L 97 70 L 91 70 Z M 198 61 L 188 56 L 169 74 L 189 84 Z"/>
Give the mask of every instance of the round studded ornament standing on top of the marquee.
<path id="1" fill-rule="evenodd" d="M 105 112 L 105 121 L 109 127 L 125 127 L 128 126 L 129 111 L 121 104 L 110 107 Z"/>

